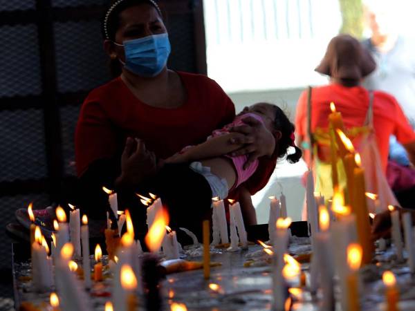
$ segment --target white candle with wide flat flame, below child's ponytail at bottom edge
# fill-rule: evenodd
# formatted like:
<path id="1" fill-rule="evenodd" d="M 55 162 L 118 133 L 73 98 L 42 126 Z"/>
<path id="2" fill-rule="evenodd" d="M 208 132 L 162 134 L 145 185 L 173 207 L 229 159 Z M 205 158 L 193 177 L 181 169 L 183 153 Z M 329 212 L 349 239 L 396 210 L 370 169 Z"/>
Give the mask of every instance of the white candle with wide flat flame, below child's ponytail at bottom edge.
<path id="1" fill-rule="evenodd" d="M 286 282 L 282 275 L 284 267 L 284 254 L 288 247 L 288 227 L 291 218 L 278 218 L 275 231 L 274 256 L 273 256 L 273 309 L 284 310 L 286 301 Z"/>

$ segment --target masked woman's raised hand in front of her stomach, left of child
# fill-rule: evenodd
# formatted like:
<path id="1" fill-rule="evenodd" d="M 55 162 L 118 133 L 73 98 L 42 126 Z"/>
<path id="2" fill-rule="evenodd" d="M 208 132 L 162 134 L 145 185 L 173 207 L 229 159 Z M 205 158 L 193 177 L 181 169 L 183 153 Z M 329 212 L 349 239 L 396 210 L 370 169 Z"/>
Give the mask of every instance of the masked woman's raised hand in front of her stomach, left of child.
<path id="1" fill-rule="evenodd" d="M 138 138 L 127 138 L 121 156 L 121 176 L 117 178 L 117 185 L 129 187 L 138 185 L 148 176 L 156 173 L 156 155 L 145 148 L 145 144 Z"/>

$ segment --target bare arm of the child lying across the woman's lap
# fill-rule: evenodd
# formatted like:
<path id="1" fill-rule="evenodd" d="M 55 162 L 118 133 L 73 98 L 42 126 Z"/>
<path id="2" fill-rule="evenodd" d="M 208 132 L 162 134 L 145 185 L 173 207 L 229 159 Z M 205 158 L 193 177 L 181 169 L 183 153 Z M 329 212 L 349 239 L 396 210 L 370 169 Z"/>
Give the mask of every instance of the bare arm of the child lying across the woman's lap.
<path id="1" fill-rule="evenodd" d="M 181 163 L 224 156 L 241 147 L 242 144 L 231 143 L 233 138 L 240 138 L 240 136 L 243 135 L 240 133 L 228 133 L 210 138 L 202 144 L 198 144 L 188 149 L 182 154 L 176 154 L 167 158 L 165 162 Z"/>

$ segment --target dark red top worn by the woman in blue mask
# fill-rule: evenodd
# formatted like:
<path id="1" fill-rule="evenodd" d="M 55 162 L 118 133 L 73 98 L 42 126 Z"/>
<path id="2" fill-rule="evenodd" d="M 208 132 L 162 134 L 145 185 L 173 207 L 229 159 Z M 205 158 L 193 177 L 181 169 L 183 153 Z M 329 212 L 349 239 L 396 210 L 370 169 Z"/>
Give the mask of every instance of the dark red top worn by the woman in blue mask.
<path id="1" fill-rule="evenodd" d="M 234 104 L 216 82 L 204 75 L 178 74 L 187 91 L 187 101 L 178 109 L 159 109 L 140 102 L 120 77 L 91 91 L 75 132 L 78 176 L 93 161 L 120 155 L 128 136 L 141 138 L 158 158 L 167 158 L 185 146 L 205 141 L 214 129 L 232 122 Z M 268 169 L 274 168 L 275 164 Z M 268 178 L 259 178 L 262 187 Z"/>

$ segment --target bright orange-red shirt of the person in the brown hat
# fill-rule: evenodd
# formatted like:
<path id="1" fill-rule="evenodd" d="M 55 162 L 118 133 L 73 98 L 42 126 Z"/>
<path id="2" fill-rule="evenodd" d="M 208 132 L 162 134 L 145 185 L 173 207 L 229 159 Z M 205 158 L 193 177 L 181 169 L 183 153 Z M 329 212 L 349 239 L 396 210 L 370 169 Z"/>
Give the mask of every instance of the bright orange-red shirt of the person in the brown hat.
<path id="1" fill-rule="evenodd" d="M 362 86 L 347 88 L 340 84 L 330 84 L 313 88 L 311 103 L 311 131 L 317 127 L 329 126 L 330 102 L 335 103 L 336 111 L 342 113 L 347 129 L 362 126 L 369 107 L 369 91 Z M 307 91 L 299 97 L 295 116 L 297 135 L 307 137 Z M 398 142 L 407 144 L 415 141 L 415 133 L 395 98 L 381 91 L 374 91 L 374 129 L 382 168 L 386 173 L 389 153 L 389 136 L 396 135 Z M 308 156 L 306 156 L 306 159 Z"/>

